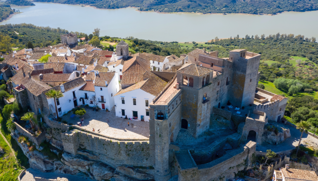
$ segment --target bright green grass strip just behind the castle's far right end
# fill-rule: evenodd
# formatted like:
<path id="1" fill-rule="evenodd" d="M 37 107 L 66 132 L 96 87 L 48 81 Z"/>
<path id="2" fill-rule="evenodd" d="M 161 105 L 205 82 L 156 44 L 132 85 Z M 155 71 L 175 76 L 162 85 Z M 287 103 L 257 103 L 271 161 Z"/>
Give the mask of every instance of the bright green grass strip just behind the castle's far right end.
<path id="1" fill-rule="evenodd" d="M 259 84 L 264 84 L 265 86 L 265 90 L 269 91 L 269 92 L 272 92 L 274 94 L 281 94 L 281 95 L 284 95 L 285 97 L 288 97 L 288 98 L 292 98 L 292 97 L 303 97 L 304 95 L 309 95 L 309 96 L 312 96 L 316 99 L 318 99 L 318 93 L 317 92 L 312 92 L 312 93 L 307 93 L 307 92 L 300 92 L 300 93 L 296 93 L 294 95 L 287 95 L 287 92 L 286 91 L 282 91 L 280 89 L 277 89 L 274 85 L 274 83 L 271 83 L 271 82 L 267 82 L 267 81 L 260 81 Z"/>

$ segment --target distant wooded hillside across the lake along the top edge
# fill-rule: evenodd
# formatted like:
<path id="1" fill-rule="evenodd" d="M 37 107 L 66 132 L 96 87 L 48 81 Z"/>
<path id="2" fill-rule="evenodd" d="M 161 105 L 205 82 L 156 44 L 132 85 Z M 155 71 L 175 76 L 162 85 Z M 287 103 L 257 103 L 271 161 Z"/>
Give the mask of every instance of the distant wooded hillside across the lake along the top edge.
<path id="1" fill-rule="evenodd" d="M 276 14 L 284 11 L 318 10 L 318 0 L 35 0 L 62 4 L 85 4 L 96 8 L 140 7 L 141 11 Z"/>

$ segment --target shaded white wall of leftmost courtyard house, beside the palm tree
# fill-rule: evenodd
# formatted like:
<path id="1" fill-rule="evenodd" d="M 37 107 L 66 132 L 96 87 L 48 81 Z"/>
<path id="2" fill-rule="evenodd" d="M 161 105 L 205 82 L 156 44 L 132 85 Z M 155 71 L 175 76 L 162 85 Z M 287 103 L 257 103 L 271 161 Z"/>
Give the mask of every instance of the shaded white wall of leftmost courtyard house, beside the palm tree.
<path id="1" fill-rule="evenodd" d="M 66 114 L 68 111 L 72 110 L 74 108 L 74 103 L 73 103 L 73 91 L 75 91 L 75 96 L 77 98 L 77 105 L 81 105 L 81 103 L 79 103 L 79 98 L 81 97 L 81 91 L 79 91 L 78 89 L 81 89 L 82 86 L 76 87 L 72 90 L 69 90 L 67 92 L 63 92 L 63 97 L 59 98 L 59 105 L 57 106 L 58 108 L 62 109 L 62 115 Z M 69 102 L 69 99 L 71 100 Z M 54 106 L 54 100 L 53 98 L 48 99 L 48 104 L 49 105 L 53 105 L 53 110 L 51 110 L 51 106 L 50 106 L 50 111 L 51 114 L 55 113 L 55 106 Z M 53 111 L 53 112 L 52 112 Z M 59 115 L 59 116 L 62 116 Z"/>

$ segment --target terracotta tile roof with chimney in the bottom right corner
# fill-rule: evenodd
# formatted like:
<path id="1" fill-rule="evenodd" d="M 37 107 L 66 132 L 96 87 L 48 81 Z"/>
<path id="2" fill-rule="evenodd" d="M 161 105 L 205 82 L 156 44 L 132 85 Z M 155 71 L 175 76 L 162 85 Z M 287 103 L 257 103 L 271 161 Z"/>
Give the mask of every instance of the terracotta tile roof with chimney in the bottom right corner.
<path id="1" fill-rule="evenodd" d="M 289 168 L 288 170 L 286 170 L 286 168 L 281 168 L 281 172 L 283 176 L 285 177 L 285 180 L 286 178 L 290 178 L 290 181 L 294 179 L 312 180 L 312 181 L 318 180 L 318 176 L 316 175 L 316 173 L 311 170 L 301 170 L 301 169 L 293 169 L 293 168 Z"/>

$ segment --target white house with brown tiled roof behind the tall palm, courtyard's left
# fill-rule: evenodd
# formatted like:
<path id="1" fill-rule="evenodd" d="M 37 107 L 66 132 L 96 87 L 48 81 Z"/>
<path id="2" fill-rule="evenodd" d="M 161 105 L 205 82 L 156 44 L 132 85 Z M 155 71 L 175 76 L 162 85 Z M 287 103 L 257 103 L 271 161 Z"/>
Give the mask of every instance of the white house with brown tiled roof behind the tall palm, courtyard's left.
<path id="1" fill-rule="evenodd" d="M 68 111 L 71 111 L 76 106 L 81 105 L 79 104 L 79 98 L 81 96 L 81 91 L 79 91 L 79 89 L 81 89 L 85 84 L 86 82 L 84 81 L 84 79 L 82 77 L 79 77 L 70 82 L 51 88 L 56 91 L 61 91 L 64 95 L 63 97 L 56 99 L 58 116 L 62 116 L 66 114 Z M 51 89 L 48 89 L 44 91 L 43 93 L 45 94 Z M 46 96 L 46 98 L 48 99 L 50 112 L 51 114 L 54 115 L 55 113 L 54 99 L 48 96 Z"/>

